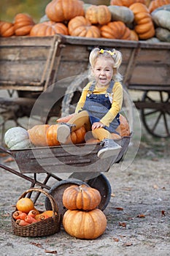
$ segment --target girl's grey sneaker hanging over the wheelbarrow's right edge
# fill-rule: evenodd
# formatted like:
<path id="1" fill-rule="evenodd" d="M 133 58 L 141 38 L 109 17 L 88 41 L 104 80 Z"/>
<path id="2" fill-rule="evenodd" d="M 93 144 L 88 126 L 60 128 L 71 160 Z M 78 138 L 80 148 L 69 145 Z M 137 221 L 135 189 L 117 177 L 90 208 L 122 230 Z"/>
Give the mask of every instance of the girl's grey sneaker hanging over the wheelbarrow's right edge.
<path id="1" fill-rule="evenodd" d="M 117 154 L 119 154 L 120 149 L 122 148 L 120 145 L 115 143 L 114 140 L 111 140 L 111 139 L 102 140 L 101 146 L 103 146 L 103 148 L 101 148 L 98 151 L 98 157 L 101 159 L 107 158 L 107 157 L 116 157 Z"/>

